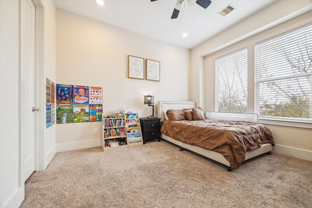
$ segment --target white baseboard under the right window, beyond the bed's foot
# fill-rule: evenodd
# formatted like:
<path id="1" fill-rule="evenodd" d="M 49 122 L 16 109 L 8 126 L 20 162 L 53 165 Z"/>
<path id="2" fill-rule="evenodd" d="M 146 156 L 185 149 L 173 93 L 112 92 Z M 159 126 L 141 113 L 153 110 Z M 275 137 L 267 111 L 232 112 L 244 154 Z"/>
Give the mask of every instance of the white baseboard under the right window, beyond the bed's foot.
<path id="1" fill-rule="evenodd" d="M 297 148 L 287 147 L 283 145 L 273 146 L 273 152 L 288 155 L 291 157 L 312 161 L 312 151 L 301 150 Z"/>

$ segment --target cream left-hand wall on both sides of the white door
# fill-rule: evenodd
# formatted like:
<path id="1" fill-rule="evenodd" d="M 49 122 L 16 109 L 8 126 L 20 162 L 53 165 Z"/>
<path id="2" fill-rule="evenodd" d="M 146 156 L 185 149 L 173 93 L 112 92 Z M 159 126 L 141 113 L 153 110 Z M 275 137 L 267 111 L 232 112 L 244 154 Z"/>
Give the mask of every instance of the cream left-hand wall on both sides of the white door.
<path id="1" fill-rule="evenodd" d="M 36 0 L 37 3 L 41 3 Z M 45 109 L 45 76 L 55 79 L 56 19 L 54 1 L 42 0 L 44 8 L 43 62 L 39 75 L 40 110 Z M 0 208 L 18 208 L 24 198 L 24 181 L 21 178 L 20 107 L 19 107 L 19 51 L 20 1 L 0 0 Z M 42 98 L 43 97 L 43 98 Z M 44 113 L 42 113 L 44 114 Z M 45 114 L 44 114 L 45 116 Z M 56 152 L 55 127 L 45 129 L 45 117 L 39 126 L 36 141 L 42 157 L 37 170 L 43 170 Z M 53 151 L 54 149 L 54 151 Z"/>

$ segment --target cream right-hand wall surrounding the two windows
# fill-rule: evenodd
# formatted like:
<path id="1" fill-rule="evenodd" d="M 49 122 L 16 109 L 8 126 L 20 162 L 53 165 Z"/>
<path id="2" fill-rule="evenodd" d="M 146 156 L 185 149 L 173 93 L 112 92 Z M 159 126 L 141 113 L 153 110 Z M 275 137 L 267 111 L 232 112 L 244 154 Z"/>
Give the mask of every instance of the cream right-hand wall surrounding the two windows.
<path id="1" fill-rule="evenodd" d="M 197 46 L 191 51 L 191 71 L 195 72 L 192 73 L 194 77 L 191 83 L 197 83 L 199 77 L 204 79 L 196 86 L 191 84 L 190 91 L 197 92 L 200 88 L 204 90 L 202 95 L 192 93 L 191 99 L 203 102 L 204 110 L 215 111 L 215 58 L 247 46 L 249 57 L 247 110 L 254 113 L 254 44 L 312 22 L 311 10 L 312 1 L 277 1 L 264 11 Z M 200 62 L 198 57 L 204 57 L 203 61 Z M 303 127 L 300 124 L 299 128 L 272 123 L 267 126 L 272 131 L 276 144 L 273 147 L 274 152 L 312 160 L 312 129 L 300 128 Z M 307 126 L 309 125 L 305 125 Z"/>

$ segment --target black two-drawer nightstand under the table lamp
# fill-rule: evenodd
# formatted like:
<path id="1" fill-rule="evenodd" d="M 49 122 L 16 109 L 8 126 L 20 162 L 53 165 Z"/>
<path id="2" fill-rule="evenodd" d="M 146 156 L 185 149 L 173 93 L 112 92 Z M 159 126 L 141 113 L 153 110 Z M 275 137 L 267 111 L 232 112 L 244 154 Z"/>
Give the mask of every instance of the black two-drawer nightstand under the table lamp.
<path id="1" fill-rule="evenodd" d="M 147 140 L 158 139 L 160 142 L 160 118 L 140 118 L 143 144 Z"/>

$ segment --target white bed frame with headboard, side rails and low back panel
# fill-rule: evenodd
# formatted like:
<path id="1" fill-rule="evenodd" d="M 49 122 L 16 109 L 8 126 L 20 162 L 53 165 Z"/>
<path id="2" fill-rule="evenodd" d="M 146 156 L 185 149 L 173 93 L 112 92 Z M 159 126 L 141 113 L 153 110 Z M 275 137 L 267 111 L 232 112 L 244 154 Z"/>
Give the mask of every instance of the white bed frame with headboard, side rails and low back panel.
<path id="1" fill-rule="evenodd" d="M 182 110 L 183 108 L 195 108 L 196 103 L 192 101 L 158 101 L 158 117 L 162 122 L 164 118 L 164 113 L 170 109 Z M 251 121 L 251 122 L 258 122 L 258 115 L 255 113 L 218 113 L 218 112 L 206 112 L 206 116 L 210 119 L 214 120 L 244 120 L 244 121 Z M 160 134 L 160 138 L 167 140 L 173 144 L 176 144 L 180 147 L 180 151 L 184 149 L 193 151 L 197 154 L 205 156 L 209 159 L 215 160 L 225 166 L 227 166 L 228 171 L 232 171 L 233 167 L 229 163 L 225 157 L 216 151 L 205 150 L 201 147 L 190 145 L 173 139 L 169 136 L 164 135 L 163 133 Z M 255 149 L 254 151 L 247 151 L 245 160 L 251 159 L 258 155 L 267 153 L 271 154 L 272 152 L 272 145 L 271 144 L 262 144 L 260 148 Z"/>

